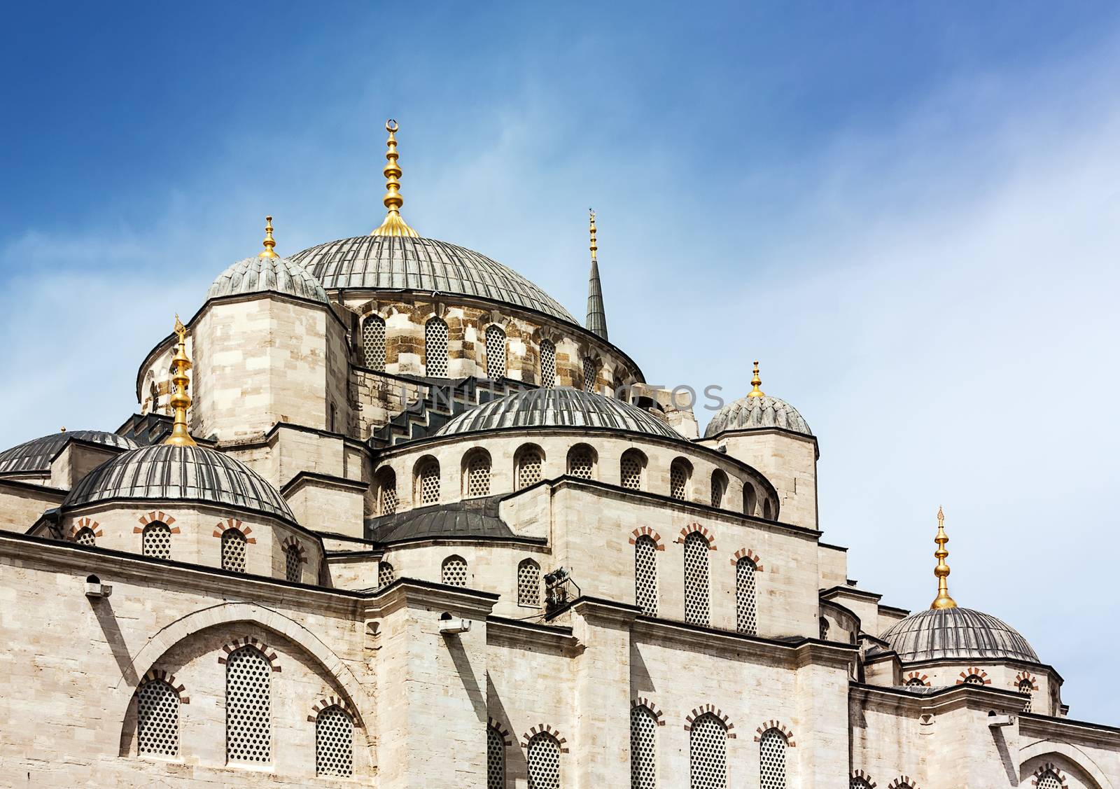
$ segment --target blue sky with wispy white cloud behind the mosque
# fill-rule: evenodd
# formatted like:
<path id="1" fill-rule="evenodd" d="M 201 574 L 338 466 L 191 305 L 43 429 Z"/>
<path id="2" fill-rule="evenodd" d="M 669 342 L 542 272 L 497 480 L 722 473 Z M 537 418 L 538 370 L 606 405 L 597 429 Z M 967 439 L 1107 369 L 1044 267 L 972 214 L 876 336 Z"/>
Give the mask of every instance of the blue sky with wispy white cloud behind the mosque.
<path id="1" fill-rule="evenodd" d="M 413 10 L 413 6 L 419 10 Z M 136 368 L 258 249 L 404 216 L 651 381 L 793 402 L 825 540 L 951 588 L 1120 724 L 1120 10 L 1105 3 L 47 4 L 0 50 L 0 446 L 115 428 Z M 708 414 L 698 414 L 701 420 Z"/>

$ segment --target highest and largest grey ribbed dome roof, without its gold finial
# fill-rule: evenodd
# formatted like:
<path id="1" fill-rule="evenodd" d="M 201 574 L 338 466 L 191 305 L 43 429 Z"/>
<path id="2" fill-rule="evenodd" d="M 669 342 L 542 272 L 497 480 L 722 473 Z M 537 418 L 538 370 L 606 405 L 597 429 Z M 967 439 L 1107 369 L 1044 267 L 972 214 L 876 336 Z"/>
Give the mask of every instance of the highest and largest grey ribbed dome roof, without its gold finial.
<path id="1" fill-rule="evenodd" d="M 474 296 L 579 323 L 560 303 L 513 269 L 435 239 L 358 235 L 291 256 L 327 290 L 419 290 Z"/>

